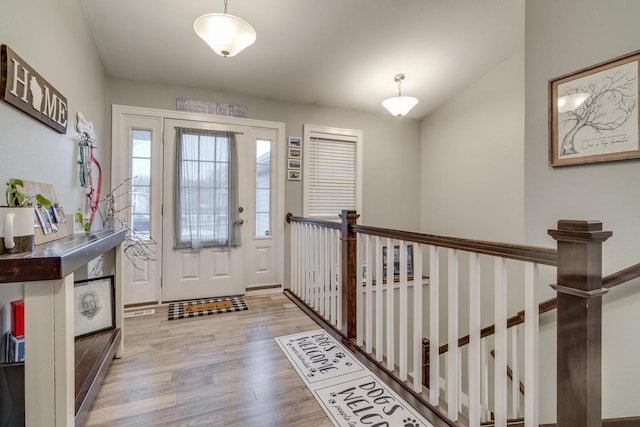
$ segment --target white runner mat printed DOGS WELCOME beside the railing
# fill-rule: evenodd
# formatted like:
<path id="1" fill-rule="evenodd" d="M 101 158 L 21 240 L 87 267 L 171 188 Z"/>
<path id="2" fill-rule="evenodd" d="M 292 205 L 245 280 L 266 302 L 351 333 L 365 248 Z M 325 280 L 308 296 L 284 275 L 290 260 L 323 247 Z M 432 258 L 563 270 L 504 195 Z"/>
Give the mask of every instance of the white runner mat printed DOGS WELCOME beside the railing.
<path id="1" fill-rule="evenodd" d="M 433 427 L 324 330 L 275 338 L 336 427 Z"/>

